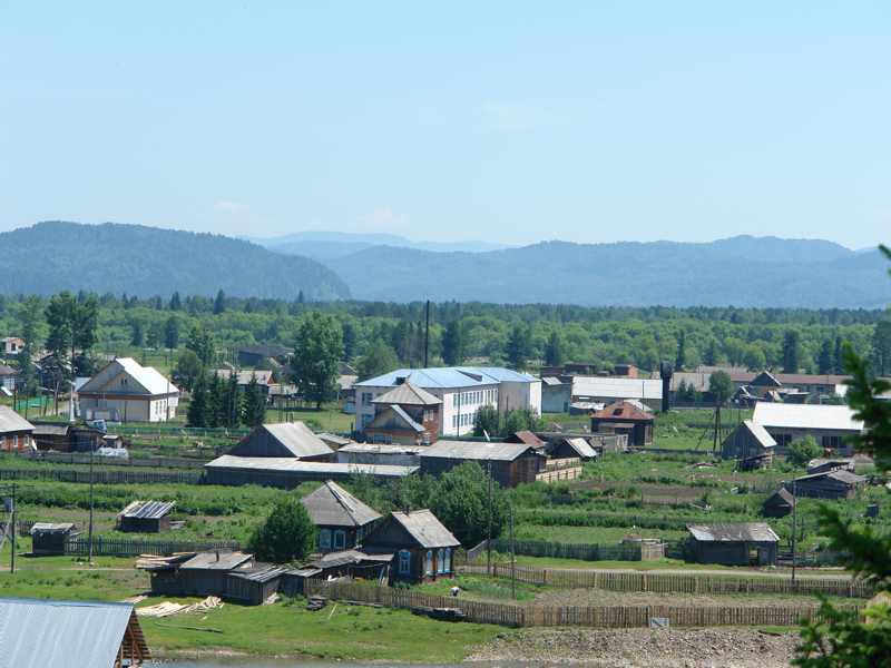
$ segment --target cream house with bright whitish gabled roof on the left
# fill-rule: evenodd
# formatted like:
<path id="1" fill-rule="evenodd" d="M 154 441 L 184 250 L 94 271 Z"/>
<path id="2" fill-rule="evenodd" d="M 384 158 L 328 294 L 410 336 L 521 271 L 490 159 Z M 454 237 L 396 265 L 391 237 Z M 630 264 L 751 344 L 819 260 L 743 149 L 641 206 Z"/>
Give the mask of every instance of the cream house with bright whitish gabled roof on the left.
<path id="1" fill-rule="evenodd" d="M 77 393 L 80 416 L 110 422 L 166 422 L 176 418 L 179 390 L 133 357 L 106 364 Z"/>

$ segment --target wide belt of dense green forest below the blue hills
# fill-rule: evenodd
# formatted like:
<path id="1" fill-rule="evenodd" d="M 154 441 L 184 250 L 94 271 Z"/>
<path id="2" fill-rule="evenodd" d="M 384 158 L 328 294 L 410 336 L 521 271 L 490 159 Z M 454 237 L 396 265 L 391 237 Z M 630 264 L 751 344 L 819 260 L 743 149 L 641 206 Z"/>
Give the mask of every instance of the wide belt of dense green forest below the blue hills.
<path id="1" fill-rule="evenodd" d="M 310 302 L 127 295 L 74 297 L 96 304 L 94 351 L 135 354 L 182 347 L 189 335 L 209 333 L 219 360 L 253 343 L 293 346 L 301 323 L 325 313 L 340 325 L 344 356 L 371 373 L 392 364 L 423 364 L 424 304 Z M 0 337 L 35 332 L 42 347 L 49 334 L 47 297 L 0 296 Z M 30 322 L 29 322 L 30 321 Z M 830 372 L 833 352 L 850 342 L 891 373 L 891 316 L 880 310 L 581 307 L 549 304 L 431 305 L 431 364 L 462 362 L 536 369 L 542 363 L 590 362 L 607 369 L 634 363 L 655 370 L 660 360 L 687 369 L 731 363 L 751 369 Z"/>

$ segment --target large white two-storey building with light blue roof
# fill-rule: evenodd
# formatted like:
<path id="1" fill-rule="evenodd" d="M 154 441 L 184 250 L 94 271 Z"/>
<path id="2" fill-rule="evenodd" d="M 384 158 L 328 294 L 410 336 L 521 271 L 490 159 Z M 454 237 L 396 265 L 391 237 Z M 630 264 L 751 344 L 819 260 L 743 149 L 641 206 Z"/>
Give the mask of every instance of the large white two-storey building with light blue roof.
<path id="1" fill-rule="evenodd" d="M 473 431 L 477 411 L 489 405 L 500 412 L 515 409 L 541 414 L 541 381 L 500 366 L 399 369 L 355 384 L 356 426 L 374 419 L 374 397 L 411 382 L 442 400 L 440 434 L 461 436 Z"/>

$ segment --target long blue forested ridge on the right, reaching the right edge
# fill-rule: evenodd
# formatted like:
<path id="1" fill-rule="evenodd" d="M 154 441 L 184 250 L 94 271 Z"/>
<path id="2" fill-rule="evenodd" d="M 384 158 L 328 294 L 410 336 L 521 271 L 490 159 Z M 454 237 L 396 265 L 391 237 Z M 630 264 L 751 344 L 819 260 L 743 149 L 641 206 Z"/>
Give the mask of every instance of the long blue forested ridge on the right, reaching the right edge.
<path id="1" fill-rule="evenodd" d="M 332 266 L 335 266 L 332 264 Z M 821 240 L 546 242 L 488 253 L 379 246 L 336 261 L 356 299 L 875 308 L 885 263 Z"/>

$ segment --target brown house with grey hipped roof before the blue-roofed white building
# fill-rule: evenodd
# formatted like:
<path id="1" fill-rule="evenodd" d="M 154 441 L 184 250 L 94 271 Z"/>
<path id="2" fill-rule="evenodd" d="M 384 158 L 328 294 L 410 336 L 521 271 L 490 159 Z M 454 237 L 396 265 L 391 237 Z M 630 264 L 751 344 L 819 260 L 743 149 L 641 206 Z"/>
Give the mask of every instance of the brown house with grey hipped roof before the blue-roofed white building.
<path id="1" fill-rule="evenodd" d="M 430 445 L 440 433 L 442 400 L 410 382 L 372 400 L 374 419 L 362 430 L 372 443 Z"/>

